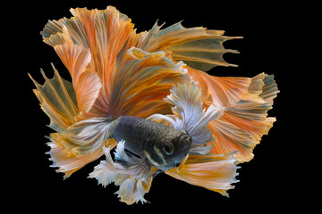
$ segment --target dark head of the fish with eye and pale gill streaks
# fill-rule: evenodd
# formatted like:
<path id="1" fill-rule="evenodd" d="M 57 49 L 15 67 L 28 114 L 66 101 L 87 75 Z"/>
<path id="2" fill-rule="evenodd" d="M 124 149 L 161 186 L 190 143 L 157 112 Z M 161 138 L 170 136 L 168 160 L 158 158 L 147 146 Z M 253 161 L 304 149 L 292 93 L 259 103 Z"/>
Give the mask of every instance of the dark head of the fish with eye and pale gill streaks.
<path id="1" fill-rule="evenodd" d="M 155 142 L 147 142 L 144 153 L 157 169 L 178 166 L 191 149 L 192 138 L 186 131 L 176 130 Z"/>

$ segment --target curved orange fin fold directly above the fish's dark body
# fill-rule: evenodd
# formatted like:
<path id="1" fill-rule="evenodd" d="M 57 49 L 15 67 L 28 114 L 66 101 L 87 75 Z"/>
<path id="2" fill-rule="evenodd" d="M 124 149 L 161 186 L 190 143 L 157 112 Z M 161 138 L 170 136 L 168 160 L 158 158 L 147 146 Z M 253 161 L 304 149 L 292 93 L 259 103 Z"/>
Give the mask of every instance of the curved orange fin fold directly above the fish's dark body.
<path id="1" fill-rule="evenodd" d="M 165 96 L 174 83 L 191 81 L 183 66 L 168 59 L 163 51 L 148 53 L 131 47 L 112 78 L 110 113 L 147 118 L 171 112 Z"/>

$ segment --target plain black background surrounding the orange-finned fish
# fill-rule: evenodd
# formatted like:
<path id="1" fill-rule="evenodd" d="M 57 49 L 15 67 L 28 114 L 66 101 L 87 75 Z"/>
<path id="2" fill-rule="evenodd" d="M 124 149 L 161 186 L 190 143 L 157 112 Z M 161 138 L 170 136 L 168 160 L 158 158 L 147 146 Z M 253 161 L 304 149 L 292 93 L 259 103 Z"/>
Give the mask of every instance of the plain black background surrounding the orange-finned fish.
<path id="1" fill-rule="evenodd" d="M 300 161 L 294 161 L 298 156 L 292 152 L 292 148 L 298 145 L 293 139 L 296 135 L 296 129 L 292 128 L 295 121 L 292 121 L 294 117 L 289 111 L 294 88 L 292 70 L 288 67 L 291 62 L 287 58 L 287 53 L 292 48 L 290 37 L 295 21 L 292 16 L 295 6 L 273 1 L 236 2 L 79 0 L 12 5 L 15 8 L 14 17 L 18 21 L 10 23 L 11 29 L 8 30 L 15 46 L 9 52 L 14 60 L 12 68 L 16 70 L 13 72 L 15 81 L 11 83 L 19 90 L 11 96 L 15 103 L 11 106 L 17 107 L 14 110 L 17 112 L 17 119 L 11 120 L 13 124 L 10 129 L 19 129 L 19 132 L 11 134 L 13 143 L 9 151 L 19 155 L 14 156 L 14 163 L 10 164 L 13 172 L 10 172 L 9 178 L 13 181 L 13 189 L 8 198 L 16 202 L 11 209 L 57 210 L 63 213 L 67 210 L 107 213 L 115 212 L 114 208 L 117 211 L 198 209 L 261 213 L 301 207 L 301 203 L 293 201 L 302 196 L 298 192 L 303 188 L 301 182 L 297 185 L 293 183 L 303 169 Z M 166 175 L 158 175 L 150 192 L 145 195 L 150 203 L 142 205 L 139 202 L 127 206 L 114 195 L 118 188 L 113 184 L 104 188 L 97 185 L 97 180 L 87 178 L 99 161 L 80 169 L 66 180 L 63 180 L 62 173 L 49 168 L 51 162 L 45 154 L 49 147 L 45 144 L 47 139 L 44 137 L 51 133 L 51 129 L 46 127 L 49 119 L 39 108 L 38 100 L 32 93 L 34 86 L 27 73 L 42 83 L 40 68 L 52 77 L 50 62 L 54 62 L 64 78 L 69 79 L 69 75 L 54 49 L 42 42 L 39 32 L 47 20 L 71 17 L 70 8 L 105 9 L 107 5 L 114 5 L 120 12 L 128 15 L 137 32 L 151 29 L 157 20 L 158 23 L 165 21 L 165 26 L 183 21 L 182 25 L 186 28 L 203 26 L 208 29 L 224 29 L 227 36 L 244 37 L 225 43 L 226 48 L 240 51 L 239 54 L 225 54 L 227 62 L 238 64 L 239 67 L 218 67 L 211 70 L 211 74 L 253 77 L 264 71 L 275 75 L 281 93 L 275 98 L 274 109 L 268 113 L 269 116 L 276 117 L 277 121 L 269 135 L 263 136 L 261 143 L 255 148 L 254 159 L 241 164 L 242 169 L 238 170 L 240 175 L 237 177 L 240 182 L 228 191 L 229 198 Z M 300 22 L 297 25 L 301 27 Z M 9 107 L 6 109 L 12 111 Z M 292 128 L 292 133 L 289 128 Z M 299 172 L 293 170 L 294 164 Z"/>

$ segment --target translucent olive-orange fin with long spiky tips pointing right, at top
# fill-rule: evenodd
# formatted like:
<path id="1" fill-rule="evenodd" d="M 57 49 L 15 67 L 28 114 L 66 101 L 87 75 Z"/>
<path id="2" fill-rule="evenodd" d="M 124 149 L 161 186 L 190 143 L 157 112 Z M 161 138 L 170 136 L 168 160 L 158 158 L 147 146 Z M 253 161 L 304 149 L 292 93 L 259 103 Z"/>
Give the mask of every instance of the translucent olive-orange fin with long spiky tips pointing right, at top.
<path id="1" fill-rule="evenodd" d="M 224 53 L 238 53 L 225 49 L 223 43 L 229 39 L 224 30 L 208 30 L 202 27 L 186 29 L 181 22 L 161 29 L 157 23 L 149 30 L 140 47 L 148 52 L 165 49 L 174 61 L 183 61 L 191 68 L 207 71 L 216 66 L 236 66 L 225 62 Z"/>

